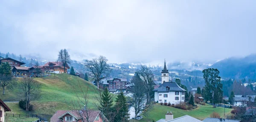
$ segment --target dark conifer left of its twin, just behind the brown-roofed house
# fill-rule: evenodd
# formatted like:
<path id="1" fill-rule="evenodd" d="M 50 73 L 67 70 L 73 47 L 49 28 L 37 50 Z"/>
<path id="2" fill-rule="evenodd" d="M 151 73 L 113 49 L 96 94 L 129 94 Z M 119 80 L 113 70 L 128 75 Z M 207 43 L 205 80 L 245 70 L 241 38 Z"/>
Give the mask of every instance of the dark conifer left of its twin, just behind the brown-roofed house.
<path id="1" fill-rule="evenodd" d="M 99 110 L 104 114 L 108 120 L 113 120 L 113 96 L 105 88 L 99 99 Z"/>

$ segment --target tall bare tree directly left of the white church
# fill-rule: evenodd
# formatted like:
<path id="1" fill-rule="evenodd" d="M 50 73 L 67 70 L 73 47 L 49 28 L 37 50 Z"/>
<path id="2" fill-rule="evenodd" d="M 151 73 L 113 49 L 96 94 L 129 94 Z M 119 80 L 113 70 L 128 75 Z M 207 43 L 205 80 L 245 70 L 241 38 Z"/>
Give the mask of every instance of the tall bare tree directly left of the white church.
<path id="1" fill-rule="evenodd" d="M 154 90 L 154 75 L 152 70 L 147 66 L 141 66 L 140 70 L 137 71 L 137 74 L 140 76 L 143 85 L 145 87 L 145 94 L 147 96 L 147 104 L 150 103 L 152 90 Z"/>

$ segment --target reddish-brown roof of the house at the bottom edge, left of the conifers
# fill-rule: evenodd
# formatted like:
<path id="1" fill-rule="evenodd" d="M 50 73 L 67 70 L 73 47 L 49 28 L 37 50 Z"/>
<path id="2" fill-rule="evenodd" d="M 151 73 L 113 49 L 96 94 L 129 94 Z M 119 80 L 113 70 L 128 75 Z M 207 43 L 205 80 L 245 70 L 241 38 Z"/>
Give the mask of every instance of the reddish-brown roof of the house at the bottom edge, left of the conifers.
<path id="1" fill-rule="evenodd" d="M 53 114 L 53 116 L 50 119 L 50 122 L 62 122 L 61 119 L 58 119 L 58 118 L 61 118 L 62 116 L 66 115 L 66 114 L 74 116 L 76 119 L 81 119 L 81 116 L 78 115 L 78 113 L 81 113 L 81 112 L 84 112 L 84 110 L 80 110 L 80 111 L 78 111 L 78 110 L 77 111 L 74 111 L 74 110 L 58 110 Z M 90 115 L 89 115 L 89 121 L 90 122 L 93 122 L 96 119 L 96 117 L 99 114 L 101 114 L 101 112 L 99 110 L 90 110 L 89 113 L 90 113 Z M 83 117 L 85 119 L 84 115 L 83 115 Z"/>

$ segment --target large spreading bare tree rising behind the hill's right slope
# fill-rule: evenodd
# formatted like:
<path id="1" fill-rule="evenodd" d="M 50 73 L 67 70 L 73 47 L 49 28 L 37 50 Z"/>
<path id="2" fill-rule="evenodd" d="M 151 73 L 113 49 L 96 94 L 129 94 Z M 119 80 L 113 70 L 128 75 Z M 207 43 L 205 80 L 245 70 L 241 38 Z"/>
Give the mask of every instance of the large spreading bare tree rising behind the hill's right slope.
<path id="1" fill-rule="evenodd" d="M 99 81 L 108 77 L 111 73 L 111 68 L 108 65 L 108 59 L 104 56 L 93 58 L 93 60 L 85 60 L 85 67 L 90 72 L 90 76 L 96 81 L 99 90 Z"/>

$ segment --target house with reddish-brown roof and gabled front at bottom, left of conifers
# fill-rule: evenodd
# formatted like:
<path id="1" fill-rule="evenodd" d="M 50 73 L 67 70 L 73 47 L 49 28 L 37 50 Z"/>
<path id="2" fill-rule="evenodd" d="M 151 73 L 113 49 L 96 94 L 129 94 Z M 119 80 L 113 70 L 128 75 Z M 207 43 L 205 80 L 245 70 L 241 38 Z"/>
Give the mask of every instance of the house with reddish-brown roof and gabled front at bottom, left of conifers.
<path id="1" fill-rule="evenodd" d="M 88 110 L 90 115 L 86 117 L 86 111 L 83 110 L 58 110 L 50 119 L 50 122 L 108 122 L 108 119 L 99 110 Z M 83 121 L 84 120 L 84 121 Z"/>

